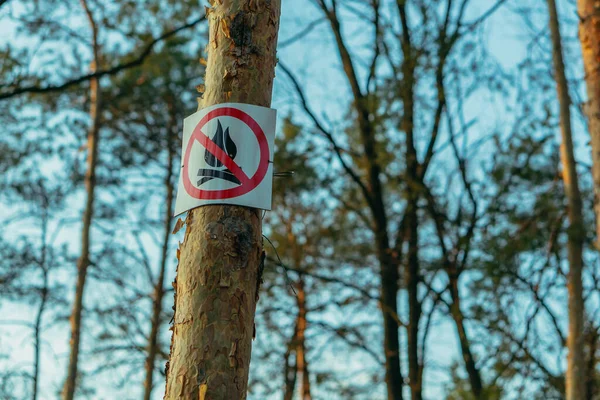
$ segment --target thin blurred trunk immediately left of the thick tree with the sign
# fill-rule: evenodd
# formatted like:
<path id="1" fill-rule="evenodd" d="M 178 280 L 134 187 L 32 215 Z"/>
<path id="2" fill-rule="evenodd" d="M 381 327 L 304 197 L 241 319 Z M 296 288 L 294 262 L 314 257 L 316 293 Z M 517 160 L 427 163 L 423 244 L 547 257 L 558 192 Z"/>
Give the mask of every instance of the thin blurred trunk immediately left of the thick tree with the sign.
<path id="1" fill-rule="evenodd" d="M 154 382 L 154 364 L 158 353 L 158 334 L 160 331 L 162 312 L 162 300 L 165 294 L 165 273 L 167 270 L 167 260 L 169 257 L 169 239 L 171 237 L 171 216 L 173 215 L 173 164 L 175 162 L 174 135 L 176 134 L 177 121 L 174 115 L 173 102 L 169 104 L 171 114 L 170 128 L 167 133 L 167 174 L 165 176 L 165 214 L 164 214 L 164 232 L 163 244 L 161 249 L 160 270 L 158 279 L 154 285 L 154 294 L 152 296 L 152 320 L 150 336 L 148 337 L 148 348 L 146 357 L 146 380 L 144 381 L 144 400 L 150 400 L 152 395 L 152 386 Z"/>

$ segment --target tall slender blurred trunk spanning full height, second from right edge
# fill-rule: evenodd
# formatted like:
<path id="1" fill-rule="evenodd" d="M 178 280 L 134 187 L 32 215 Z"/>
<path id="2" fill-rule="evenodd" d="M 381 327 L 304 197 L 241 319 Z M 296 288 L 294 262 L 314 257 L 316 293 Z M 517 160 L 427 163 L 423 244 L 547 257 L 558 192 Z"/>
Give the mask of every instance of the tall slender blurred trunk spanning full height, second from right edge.
<path id="1" fill-rule="evenodd" d="M 583 355 L 583 288 L 581 271 L 583 268 L 583 218 L 579 179 L 575 162 L 571 131 L 571 98 L 565 75 L 560 26 L 554 0 L 548 0 L 550 11 L 550 33 L 552 35 L 553 59 L 558 100 L 560 103 L 560 127 L 562 134 L 561 160 L 563 181 L 568 202 L 569 230 L 567 251 L 569 258 L 569 336 L 567 347 L 566 395 L 567 400 L 585 398 L 585 358 Z"/>

